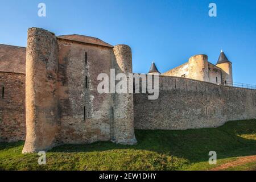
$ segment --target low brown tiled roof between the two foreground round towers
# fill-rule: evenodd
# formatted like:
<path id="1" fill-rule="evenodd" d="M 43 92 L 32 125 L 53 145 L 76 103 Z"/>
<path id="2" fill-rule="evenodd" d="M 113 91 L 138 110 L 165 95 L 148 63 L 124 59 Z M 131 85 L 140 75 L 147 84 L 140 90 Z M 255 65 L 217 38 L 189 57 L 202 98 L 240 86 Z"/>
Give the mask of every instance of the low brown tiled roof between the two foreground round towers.
<path id="1" fill-rule="evenodd" d="M 57 38 L 76 41 L 76 42 L 82 42 L 87 44 L 95 44 L 95 45 L 105 46 L 105 47 L 113 47 L 112 45 L 104 42 L 101 39 L 94 38 L 92 36 L 86 36 L 86 35 L 79 35 L 79 34 L 59 35 L 57 36 Z"/>

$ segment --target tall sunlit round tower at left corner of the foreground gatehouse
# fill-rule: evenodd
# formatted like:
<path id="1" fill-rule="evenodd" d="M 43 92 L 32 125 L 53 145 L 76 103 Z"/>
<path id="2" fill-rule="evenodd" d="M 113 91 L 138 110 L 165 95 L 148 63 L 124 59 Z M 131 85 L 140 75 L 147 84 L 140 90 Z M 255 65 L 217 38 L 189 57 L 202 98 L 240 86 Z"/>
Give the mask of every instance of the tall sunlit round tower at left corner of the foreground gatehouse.
<path id="1" fill-rule="evenodd" d="M 57 117 L 57 40 L 42 28 L 28 29 L 26 57 L 26 142 L 23 153 L 55 146 Z"/>

